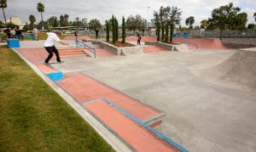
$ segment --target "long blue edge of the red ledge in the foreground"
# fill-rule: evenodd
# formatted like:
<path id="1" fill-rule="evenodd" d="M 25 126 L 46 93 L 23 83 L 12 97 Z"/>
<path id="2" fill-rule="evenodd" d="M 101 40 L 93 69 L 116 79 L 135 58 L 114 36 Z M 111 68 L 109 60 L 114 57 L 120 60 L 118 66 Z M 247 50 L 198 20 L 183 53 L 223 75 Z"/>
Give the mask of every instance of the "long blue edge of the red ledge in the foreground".
<path id="1" fill-rule="evenodd" d="M 182 146 L 178 145 L 177 143 L 175 143 L 174 141 L 172 141 L 172 139 L 167 138 L 165 135 L 161 134 L 160 132 L 157 132 L 156 130 L 154 130 L 152 127 L 149 127 L 146 123 L 144 123 L 143 121 L 140 121 L 139 119 L 137 119 L 135 116 L 129 114 L 127 111 L 123 110 L 122 108 L 120 108 L 117 104 L 113 104 L 113 102 L 111 102 L 108 99 L 102 98 L 103 101 L 107 102 L 108 104 L 110 104 L 111 106 L 113 106 L 115 109 L 121 111 L 123 114 L 129 116 L 132 120 L 137 121 L 139 124 L 143 125 L 143 127 L 146 127 L 149 131 L 154 132 L 154 134 L 156 134 L 158 137 L 164 139 L 167 143 L 172 144 L 174 147 L 176 147 L 177 149 L 180 149 L 183 152 L 189 152 L 187 149 L 184 149 Z M 96 100 L 94 100 L 96 101 Z"/>

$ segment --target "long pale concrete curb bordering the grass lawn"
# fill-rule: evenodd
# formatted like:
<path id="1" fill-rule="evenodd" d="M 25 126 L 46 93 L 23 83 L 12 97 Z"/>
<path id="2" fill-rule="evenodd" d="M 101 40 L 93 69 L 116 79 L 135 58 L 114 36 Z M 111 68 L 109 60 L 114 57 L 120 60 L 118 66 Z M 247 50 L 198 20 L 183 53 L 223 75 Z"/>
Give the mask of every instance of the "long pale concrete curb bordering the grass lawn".
<path id="1" fill-rule="evenodd" d="M 15 49 L 11 48 L 15 53 L 17 53 L 21 59 L 23 59 L 27 65 L 29 65 L 32 70 L 34 70 L 38 76 L 40 76 L 44 82 L 46 82 L 50 87 L 52 87 L 56 93 L 58 93 L 62 99 L 64 99 L 67 104 L 69 104 L 73 110 L 75 110 L 83 119 L 87 121 L 91 127 L 93 127 L 96 132 L 104 138 L 112 146 L 116 151 L 132 151 L 127 145 L 125 145 L 119 138 L 113 135 L 113 132 L 110 132 L 108 128 L 104 127 L 99 121 L 97 121 L 90 113 L 84 109 L 75 99 L 73 99 L 70 95 L 68 95 L 61 87 L 59 87 L 55 82 L 52 82 L 48 76 L 44 75 L 41 70 L 33 65 L 29 60 L 24 58 L 22 54 L 20 54 Z"/>

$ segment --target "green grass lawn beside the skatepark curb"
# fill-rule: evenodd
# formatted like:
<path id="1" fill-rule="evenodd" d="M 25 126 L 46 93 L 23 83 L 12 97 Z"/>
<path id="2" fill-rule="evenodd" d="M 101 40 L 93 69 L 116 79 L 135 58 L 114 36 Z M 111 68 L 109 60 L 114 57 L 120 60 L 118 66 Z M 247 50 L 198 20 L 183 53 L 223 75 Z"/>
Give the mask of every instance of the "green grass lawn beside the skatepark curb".
<path id="1" fill-rule="evenodd" d="M 0 151 L 113 151 L 15 52 L 0 60 Z"/>

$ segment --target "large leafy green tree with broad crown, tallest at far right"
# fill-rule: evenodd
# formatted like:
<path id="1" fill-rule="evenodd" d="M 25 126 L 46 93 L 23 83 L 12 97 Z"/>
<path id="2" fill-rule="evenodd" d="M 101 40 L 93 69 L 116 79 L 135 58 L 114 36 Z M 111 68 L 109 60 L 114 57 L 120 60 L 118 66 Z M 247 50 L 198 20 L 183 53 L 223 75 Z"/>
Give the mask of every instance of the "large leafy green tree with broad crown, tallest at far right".
<path id="1" fill-rule="evenodd" d="M 233 3 L 214 8 L 212 11 L 212 18 L 209 19 L 209 25 L 212 27 L 218 27 L 220 30 L 219 37 L 222 37 L 224 29 L 231 29 L 236 21 L 236 14 L 240 11 L 240 8 L 235 8 Z"/>

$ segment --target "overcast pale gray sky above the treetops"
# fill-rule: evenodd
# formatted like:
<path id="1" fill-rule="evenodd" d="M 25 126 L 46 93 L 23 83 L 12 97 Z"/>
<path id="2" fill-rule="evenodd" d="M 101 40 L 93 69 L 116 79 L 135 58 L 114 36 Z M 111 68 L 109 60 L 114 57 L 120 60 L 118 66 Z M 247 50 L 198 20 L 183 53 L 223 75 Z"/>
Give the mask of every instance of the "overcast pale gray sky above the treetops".
<path id="1" fill-rule="evenodd" d="M 247 24 L 255 23 L 253 14 L 256 12 L 256 0 L 8 0 L 8 7 L 5 8 L 7 19 L 20 17 L 23 23 L 29 22 L 28 16 L 33 14 L 37 22 L 41 20 L 37 10 L 37 3 L 44 4 L 44 20 L 51 16 L 59 17 L 61 14 L 68 14 L 69 20 L 87 18 L 97 19 L 101 22 L 109 20 L 113 15 L 121 20 L 129 15 L 140 14 L 148 21 L 153 18 L 153 13 L 159 11 L 160 6 L 176 6 L 182 11 L 181 23 L 189 16 L 195 17 L 195 24 L 200 25 L 201 20 L 211 17 L 212 10 L 228 3 L 234 3 L 235 7 L 241 8 L 241 12 L 247 13 Z M 150 7 L 150 8 L 148 8 Z M 0 13 L 0 20 L 3 20 L 3 13 Z"/>

